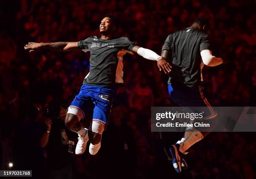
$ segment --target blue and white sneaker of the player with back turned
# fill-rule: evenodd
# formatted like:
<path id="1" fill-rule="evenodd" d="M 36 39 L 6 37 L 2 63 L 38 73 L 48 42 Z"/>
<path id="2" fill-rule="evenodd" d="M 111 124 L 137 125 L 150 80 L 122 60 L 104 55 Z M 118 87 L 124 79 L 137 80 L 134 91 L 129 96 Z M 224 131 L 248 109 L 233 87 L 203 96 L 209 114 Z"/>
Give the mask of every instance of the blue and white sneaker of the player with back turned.
<path id="1" fill-rule="evenodd" d="M 170 146 L 170 152 L 172 154 L 172 165 L 178 173 L 182 171 L 182 161 L 184 154 L 179 151 L 179 144 L 176 143 Z M 186 166 L 186 162 L 183 163 Z"/>

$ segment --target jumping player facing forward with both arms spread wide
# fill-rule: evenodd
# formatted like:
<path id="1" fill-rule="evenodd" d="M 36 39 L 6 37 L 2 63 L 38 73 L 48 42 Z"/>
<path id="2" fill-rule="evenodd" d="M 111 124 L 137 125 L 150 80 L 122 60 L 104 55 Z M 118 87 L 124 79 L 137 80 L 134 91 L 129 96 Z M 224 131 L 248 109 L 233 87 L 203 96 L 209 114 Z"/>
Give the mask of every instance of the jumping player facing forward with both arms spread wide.
<path id="1" fill-rule="evenodd" d="M 164 72 L 171 66 L 154 51 L 137 46 L 127 37 L 115 38 L 118 21 L 106 15 L 100 23 L 101 37 L 91 36 L 78 42 L 28 43 L 24 48 L 31 51 L 51 49 L 55 51 L 90 51 L 90 72 L 84 79 L 79 94 L 69 106 L 65 124 L 69 130 L 78 133 L 79 141 L 75 153 L 84 153 L 90 139 L 89 152 L 95 155 L 107 123 L 117 84 L 123 83 L 123 55 L 136 53 L 146 59 L 157 61 Z M 85 116 L 92 118 L 89 130 L 79 123 Z"/>

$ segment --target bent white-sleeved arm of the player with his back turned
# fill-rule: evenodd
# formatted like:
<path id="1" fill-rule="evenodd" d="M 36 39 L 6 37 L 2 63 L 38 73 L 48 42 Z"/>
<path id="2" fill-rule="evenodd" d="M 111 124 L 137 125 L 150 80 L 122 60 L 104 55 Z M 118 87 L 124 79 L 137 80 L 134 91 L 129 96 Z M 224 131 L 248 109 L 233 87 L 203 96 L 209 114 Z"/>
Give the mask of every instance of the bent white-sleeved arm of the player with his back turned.
<path id="1" fill-rule="evenodd" d="M 217 58 L 212 55 L 212 51 L 210 50 L 202 50 L 201 51 L 202 61 L 207 66 L 217 66 L 223 63 L 221 58 Z"/>

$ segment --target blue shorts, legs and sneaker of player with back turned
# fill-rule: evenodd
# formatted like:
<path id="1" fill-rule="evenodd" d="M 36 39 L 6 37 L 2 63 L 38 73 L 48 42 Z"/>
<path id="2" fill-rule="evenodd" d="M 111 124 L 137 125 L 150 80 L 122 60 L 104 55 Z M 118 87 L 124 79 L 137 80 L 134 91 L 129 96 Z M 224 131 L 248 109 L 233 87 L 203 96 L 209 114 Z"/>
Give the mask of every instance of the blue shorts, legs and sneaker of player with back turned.
<path id="1" fill-rule="evenodd" d="M 173 89 L 172 87 L 169 87 L 169 95 L 171 99 L 180 106 L 189 106 L 191 111 L 196 110 L 197 107 L 208 107 L 204 114 L 204 120 L 210 121 L 210 126 L 215 128 L 217 113 L 215 113 L 209 102 L 204 97 L 201 86 L 199 89 L 188 87 L 177 87 Z M 193 108 L 193 106 L 196 107 Z M 184 170 L 187 168 L 187 164 L 184 160 L 184 154 L 187 153 L 187 149 L 202 140 L 202 138 L 204 138 L 208 133 L 209 132 L 200 132 L 199 128 L 187 128 L 184 132 L 184 136 L 177 141 L 176 144 L 170 147 L 173 166 L 177 172 L 181 172 L 181 169 Z"/>

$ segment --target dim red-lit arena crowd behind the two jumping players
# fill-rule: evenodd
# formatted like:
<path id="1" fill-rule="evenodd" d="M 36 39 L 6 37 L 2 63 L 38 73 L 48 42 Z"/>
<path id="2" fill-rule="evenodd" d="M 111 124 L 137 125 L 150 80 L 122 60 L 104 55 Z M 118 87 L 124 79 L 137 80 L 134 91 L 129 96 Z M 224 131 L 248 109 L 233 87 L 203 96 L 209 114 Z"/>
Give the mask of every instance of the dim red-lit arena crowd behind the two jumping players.
<path id="1" fill-rule="evenodd" d="M 88 52 L 28 53 L 23 46 L 30 41 L 99 37 L 100 20 L 106 13 L 119 18 L 117 36 L 127 36 L 158 54 L 169 33 L 191 26 L 196 17 L 207 18 L 212 51 L 228 61 L 203 69 L 207 99 L 213 106 L 255 105 L 253 0 L 3 0 L 1 4 L 0 23 L 4 26 L 0 30 L 0 169 L 15 160 L 15 142 L 23 140 L 17 131 L 35 120 L 29 115 L 31 107 L 40 109 L 39 118 L 46 103 L 68 107 L 90 69 Z M 85 153 L 74 157 L 74 179 L 175 175 L 159 134 L 150 129 L 151 106 L 173 105 L 167 92 L 168 77 L 159 72 L 156 62 L 137 55 L 125 55 L 123 71 L 125 83 L 118 89 L 102 148 L 96 156 Z M 33 136 L 31 128 L 28 137 Z M 174 136 L 176 142 L 180 134 Z M 44 154 L 44 150 L 38 152 Z M 255 152 L 256 141 L 250 133 L 213 133 L 189 150 L 189 170 L 183 176 L 251 179 L 256 175 Z M 35 162 L 44 166 L 43 158 Z"/>

